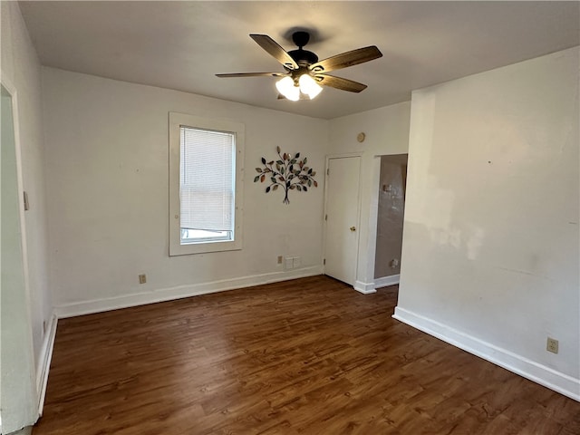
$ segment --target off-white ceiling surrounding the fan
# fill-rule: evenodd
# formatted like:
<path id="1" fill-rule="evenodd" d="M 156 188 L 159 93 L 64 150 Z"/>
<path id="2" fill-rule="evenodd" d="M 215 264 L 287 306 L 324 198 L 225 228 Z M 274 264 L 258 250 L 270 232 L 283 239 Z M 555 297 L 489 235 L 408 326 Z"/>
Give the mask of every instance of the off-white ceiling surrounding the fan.
<path id="1" fill-rule="evenodd" d="M 371 110 L 411 90 L 580 44 L 579 2 L 21 2 L 43 65 L 317 118 Z M 367 45 L 383 57 L 334 75 L 368 84 L 277 100 L 284 72 L 248 34 L 293 50 L 292 29 L 320 59 Z"/>

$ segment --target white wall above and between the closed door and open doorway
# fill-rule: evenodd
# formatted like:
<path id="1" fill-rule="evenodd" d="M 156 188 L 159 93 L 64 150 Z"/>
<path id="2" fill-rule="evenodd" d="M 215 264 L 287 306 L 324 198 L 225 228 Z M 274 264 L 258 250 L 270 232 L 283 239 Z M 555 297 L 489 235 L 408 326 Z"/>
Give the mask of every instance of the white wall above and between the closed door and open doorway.
<path id="1" fill-rule="evenodd" d="M 330 121 L 330 154 L 362 153 L 359 258 L 354 287 L 374 291 L 374 256 L 381 155 L 405 154 L 409 146 L 411 102 L 401 102 Z M 359 142 L 357 135 L 365 133 Z"/>

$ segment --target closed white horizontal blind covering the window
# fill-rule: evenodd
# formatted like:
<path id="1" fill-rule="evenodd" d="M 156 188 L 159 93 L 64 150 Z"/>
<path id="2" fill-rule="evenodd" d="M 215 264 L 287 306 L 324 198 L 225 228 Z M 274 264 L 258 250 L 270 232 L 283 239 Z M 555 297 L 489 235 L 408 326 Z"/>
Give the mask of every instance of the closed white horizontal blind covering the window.
<path id="1" fill-rule="evenodd" d="M 233 231 L 235 134 L 179 130 L 181 227 Z"/>

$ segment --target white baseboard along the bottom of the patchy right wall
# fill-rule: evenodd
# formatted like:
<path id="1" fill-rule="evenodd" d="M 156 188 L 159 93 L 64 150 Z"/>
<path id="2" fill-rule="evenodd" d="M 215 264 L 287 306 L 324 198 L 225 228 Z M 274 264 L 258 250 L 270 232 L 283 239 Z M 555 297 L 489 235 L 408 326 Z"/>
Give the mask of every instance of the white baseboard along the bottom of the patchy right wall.
<path id="1" fill-rule="evenodd" d="M 530 381 L 544 385 L 550 390 L 564 394 L 575 401 L 580 401 L 580 379 L 557 372 L 517 353 L 509 352 L 467 333 L 462 333 L 446 324 L 440 324 L 420 314 L 414 314 L 404 308 L 395 307 L 395 314 L 392 317 L 424 333 L 429 333 L 444 342 L 459 347 L 459 349 L 473 353 L 488 362 L 493 362 L 510 372 L 517 373 Z"/>

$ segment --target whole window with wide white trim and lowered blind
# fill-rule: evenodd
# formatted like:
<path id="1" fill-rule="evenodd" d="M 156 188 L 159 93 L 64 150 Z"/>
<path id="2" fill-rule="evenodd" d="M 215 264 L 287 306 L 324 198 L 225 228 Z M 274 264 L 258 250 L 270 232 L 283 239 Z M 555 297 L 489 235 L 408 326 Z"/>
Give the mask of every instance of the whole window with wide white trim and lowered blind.
<path id="1" fill-rule="evenodd" d="M 244 125 L 169 113 L 169 255 L 241 249 Z"/>

